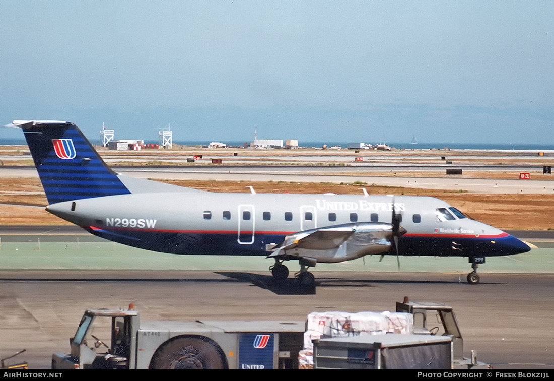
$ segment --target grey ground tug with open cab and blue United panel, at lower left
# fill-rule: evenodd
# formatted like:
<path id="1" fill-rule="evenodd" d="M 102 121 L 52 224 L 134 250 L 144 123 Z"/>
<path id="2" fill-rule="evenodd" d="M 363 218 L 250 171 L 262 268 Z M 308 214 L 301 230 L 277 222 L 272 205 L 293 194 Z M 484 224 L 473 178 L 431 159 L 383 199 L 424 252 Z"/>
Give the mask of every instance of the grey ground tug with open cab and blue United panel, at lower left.
<path id="1" fill-rule="evenodd" d="M 297 369 L 304 326 L 303 321 L 141 323 L 132 307 L 88 309 L 70 339 L 71 353 L 54 354 L 52 369 Z"/>

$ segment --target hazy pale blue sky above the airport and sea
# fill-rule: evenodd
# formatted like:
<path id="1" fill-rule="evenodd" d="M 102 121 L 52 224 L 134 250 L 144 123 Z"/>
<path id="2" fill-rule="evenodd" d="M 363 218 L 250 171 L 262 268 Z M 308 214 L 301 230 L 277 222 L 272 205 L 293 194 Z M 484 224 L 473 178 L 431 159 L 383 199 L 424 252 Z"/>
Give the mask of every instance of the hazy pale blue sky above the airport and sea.
<path id="1" fill-rule="evenodd" d="M 553 1 L 0 0 L 0 124 L 554 143 L 553 38 Z"/>

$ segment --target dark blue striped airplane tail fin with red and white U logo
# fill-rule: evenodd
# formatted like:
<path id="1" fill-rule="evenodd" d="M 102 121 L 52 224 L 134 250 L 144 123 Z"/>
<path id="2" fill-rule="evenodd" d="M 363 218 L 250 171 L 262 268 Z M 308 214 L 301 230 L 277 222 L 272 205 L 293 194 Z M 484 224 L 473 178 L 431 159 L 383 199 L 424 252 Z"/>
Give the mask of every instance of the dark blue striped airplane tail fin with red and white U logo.
<path id="1" fill-rule="evenodd" d="M 131 193 L 73 123 L 18 121 L 49 204 Z"/>

